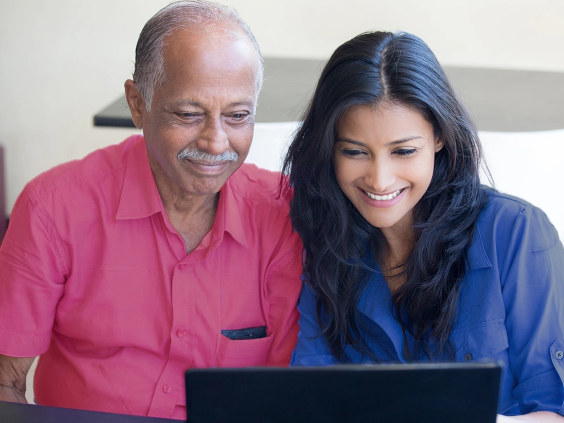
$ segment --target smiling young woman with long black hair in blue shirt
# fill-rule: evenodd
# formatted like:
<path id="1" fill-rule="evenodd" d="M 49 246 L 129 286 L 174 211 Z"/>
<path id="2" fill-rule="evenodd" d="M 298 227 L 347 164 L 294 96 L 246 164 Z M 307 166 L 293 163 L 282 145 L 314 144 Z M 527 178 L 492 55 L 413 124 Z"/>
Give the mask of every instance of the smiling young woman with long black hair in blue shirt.
<path id="1" fill-rule="evenodd" d="M 305 246 L 293 365 L 501 361 L 500 414 L 564 421 L 564 249 L 480 162 L 421 39 L 334 52 L 284 164 Z"/>

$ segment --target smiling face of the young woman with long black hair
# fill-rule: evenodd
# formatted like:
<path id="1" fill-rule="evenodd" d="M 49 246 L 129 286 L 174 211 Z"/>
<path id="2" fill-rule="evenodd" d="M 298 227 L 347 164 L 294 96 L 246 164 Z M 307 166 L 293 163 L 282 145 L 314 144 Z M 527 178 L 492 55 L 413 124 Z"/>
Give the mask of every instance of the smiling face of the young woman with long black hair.
<path id="1" fill-rule="evenodd" d="M 433 126 L 396 103 L 351 107 L 336 126 L 334 170 L 341 190 L 373 226 L 406 228 L 443 147 Z"/>

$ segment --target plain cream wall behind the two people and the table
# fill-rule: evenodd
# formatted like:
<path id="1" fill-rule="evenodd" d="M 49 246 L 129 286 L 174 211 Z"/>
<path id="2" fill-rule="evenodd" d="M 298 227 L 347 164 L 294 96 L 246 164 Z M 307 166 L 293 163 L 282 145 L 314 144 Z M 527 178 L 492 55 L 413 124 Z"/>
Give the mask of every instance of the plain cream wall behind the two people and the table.
<path id="1" fill-rule="evenodd" d="M 122 93 L 136 38 L 160 0 L 0 0 L 0 143 L 7 205 L 41 171 L 120 142 L 92 126 Z M 564 72 L 561 0 L 226 0 L 263 54 L 325 58 L 369 29 L 425 39 L 444 64 Z"/>

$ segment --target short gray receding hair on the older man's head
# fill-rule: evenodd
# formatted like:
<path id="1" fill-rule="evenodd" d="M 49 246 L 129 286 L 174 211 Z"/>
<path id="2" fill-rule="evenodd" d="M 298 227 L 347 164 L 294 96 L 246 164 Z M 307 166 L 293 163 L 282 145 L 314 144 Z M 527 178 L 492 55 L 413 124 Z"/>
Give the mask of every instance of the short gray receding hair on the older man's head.
<path id="1" fill-rule="evenodd" d="M 151 17 L 139 34 L 135 48 L 133 81 L 141 94 L 147 111 L 151 110 L 155 89 L 165 80 L 165 38 L 180 29 L 205 29 L 224 23 L 235 24 L 249 37 L 258 55 L 257 89 L 262 86 L 263 61 L 261 49 L 249 25 L 235 8 L 205 0 L 186 0 L 170 3 Z M 227 28 L 222 28 L 229 31 Z"/>

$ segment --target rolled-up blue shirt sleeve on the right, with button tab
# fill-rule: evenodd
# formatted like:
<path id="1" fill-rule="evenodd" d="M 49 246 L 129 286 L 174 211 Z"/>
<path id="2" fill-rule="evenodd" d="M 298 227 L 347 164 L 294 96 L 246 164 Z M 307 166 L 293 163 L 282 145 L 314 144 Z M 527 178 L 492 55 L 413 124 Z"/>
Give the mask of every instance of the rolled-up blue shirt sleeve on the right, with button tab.
<path id="1" fill-rule="evenodd" d="M 547 216 L 526 206 L 498 250 L 509 364 L 521 413 L 564 415 L 564 249 Z M 505 242 L 504 242 L 505 241 Z"/>

